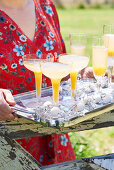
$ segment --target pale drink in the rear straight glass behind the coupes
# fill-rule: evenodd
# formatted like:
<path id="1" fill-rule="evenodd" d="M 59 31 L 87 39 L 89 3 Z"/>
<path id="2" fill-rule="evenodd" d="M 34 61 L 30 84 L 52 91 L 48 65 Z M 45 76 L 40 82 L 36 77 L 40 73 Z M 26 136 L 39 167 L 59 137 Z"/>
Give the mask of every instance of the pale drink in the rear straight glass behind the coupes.
<path id="1" fill-rule="evenodd" d="M 71 53 L 72 54 L 85 56 L 86 47 L 84 45 L 71 45 L 70 48 L 71 48 Z"/>

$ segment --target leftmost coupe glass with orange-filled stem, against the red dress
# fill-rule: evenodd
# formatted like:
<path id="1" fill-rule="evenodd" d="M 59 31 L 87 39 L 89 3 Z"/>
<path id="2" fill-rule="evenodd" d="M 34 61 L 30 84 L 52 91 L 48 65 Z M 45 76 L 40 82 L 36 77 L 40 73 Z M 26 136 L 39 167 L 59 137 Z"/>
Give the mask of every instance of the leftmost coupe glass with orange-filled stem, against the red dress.
<path id="1" fill-rule="evenodd" d="M 30 71 L 34 72 L 35 84 L 36 84 L 36 97 L 39 99 L 41 96 L 41 84 L 42 84 L 42 71 L 41 63 L 43 59 L 38 59 L 35 54 L 27 54 L 23 56 L 23 64 Z"/>

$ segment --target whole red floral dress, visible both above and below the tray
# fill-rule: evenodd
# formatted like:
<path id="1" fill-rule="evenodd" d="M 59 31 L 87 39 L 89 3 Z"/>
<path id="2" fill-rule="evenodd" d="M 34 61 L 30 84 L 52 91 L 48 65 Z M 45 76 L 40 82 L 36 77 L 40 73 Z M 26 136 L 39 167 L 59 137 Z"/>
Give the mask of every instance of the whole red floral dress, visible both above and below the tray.
<path id="1" fill-rule="evenodd" d="M 19 26 L 0 10 L 0 88 L 11 90 L 13 94 L 33 90 L 33 72 L 23 65 L 22 56 L 34 53 L 38 58 L 43 54 L 49 59 L 65 52 L 64 42 L 55 6 L 50 0 L 34 0 L 36 26 L 34 40 L 31 41 Z M 50 85 L 43 76 L 42 86 Z M 48 135 L 17 140 L 42 165 L 74 160 L 68 134 Z"/>

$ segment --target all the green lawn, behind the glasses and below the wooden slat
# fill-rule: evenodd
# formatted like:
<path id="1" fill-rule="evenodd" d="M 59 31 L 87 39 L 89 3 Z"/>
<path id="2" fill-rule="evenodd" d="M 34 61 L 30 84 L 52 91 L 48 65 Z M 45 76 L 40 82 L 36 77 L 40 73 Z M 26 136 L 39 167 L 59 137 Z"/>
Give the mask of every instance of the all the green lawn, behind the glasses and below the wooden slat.
<path id="1" fill-rule="evenodd" d="M 114 23 L 114 9 L 57 9 L 61 33 L 70 52 L 69 33 L 88 33 L 87 54 L 91 56 L 92 36 L 102 35 L 103 24 Z M 91 60 L 89 65 L 91 65 Z M 77 158 L 114 152 L 114 127 L 70 133 Z"/>

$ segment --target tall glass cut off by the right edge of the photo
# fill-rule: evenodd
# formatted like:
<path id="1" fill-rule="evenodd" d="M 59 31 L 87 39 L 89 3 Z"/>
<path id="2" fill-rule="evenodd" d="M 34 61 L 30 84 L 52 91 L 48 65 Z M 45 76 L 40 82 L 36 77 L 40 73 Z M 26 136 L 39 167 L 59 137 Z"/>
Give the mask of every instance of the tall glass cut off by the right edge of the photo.
<path id="1" fill-rule="evenodd" d="M 114 71 L 114 25 L 103 26 L 103 40 L 105 46 L 108 48 L 108 82 L 109 86 L 112 82 L 112 74 Z"/>

